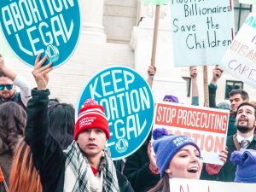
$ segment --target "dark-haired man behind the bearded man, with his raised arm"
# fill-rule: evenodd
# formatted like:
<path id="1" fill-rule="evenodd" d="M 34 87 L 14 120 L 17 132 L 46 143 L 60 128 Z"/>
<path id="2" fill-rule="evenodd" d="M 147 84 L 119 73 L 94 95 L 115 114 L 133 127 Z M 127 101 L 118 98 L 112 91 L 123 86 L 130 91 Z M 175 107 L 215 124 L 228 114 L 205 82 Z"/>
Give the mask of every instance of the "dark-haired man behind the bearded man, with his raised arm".
<path id="1" fill-rule="evenodd" d="M 209 106 L 210 108 L 217 108 L 216 106 L 216 90 L 217 90 L 217 81 L 221 77 L 223 70 L 221 70 L 218 66 L 212 70 L 212 81 L 209 84 Z M 242 102 L 248 102 L 249 96 L 245 90 L 231 90 L 229 93 L 230 96 L 230 105 L 231 105 L 231 112 L 230 112 L 230 119 L 228 125 L 228 134 L 227 136 L 232 136 L 236 134 L 236 125 L 235 125 L 235 114 L 237 107 Z"/>

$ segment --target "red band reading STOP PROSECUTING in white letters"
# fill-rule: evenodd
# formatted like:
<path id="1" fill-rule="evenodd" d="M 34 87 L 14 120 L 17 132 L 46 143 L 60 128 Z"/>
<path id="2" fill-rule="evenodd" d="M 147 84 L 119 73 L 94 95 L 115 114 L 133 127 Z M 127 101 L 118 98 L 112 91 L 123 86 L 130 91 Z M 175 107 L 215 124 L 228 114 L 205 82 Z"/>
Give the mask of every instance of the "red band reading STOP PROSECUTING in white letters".
<path id="1" fill-rule="evenodd" d="M 158 103 L 154 123 L 190 130 L 226 133 L 228 114 L 203 108 Z"/>

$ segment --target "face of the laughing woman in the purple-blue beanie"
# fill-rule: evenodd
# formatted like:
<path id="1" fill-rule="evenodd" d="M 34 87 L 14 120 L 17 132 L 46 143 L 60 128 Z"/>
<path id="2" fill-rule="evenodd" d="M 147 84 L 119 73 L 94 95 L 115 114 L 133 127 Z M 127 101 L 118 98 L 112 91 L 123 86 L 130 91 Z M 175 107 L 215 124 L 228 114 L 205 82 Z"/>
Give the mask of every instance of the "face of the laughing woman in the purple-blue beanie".
<path id="1" fill-rule="evenodd" d="M 169 177 L 199 179 L 201 168 L 198 150 L 193 145 L 186 145 L 173 156 L 166 173 Z"/>

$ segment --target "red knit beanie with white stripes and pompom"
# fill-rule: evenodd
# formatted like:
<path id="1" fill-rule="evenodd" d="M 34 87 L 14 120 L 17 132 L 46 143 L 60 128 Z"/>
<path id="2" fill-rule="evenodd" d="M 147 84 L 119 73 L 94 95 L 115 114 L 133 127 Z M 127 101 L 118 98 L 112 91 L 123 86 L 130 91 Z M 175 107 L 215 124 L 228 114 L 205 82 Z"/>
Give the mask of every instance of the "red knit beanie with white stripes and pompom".
<path id="1" fill-rule="evenodd" d="M 98 105 L 93 99 L 87 99 L 79 111 L 79 119 L 75 125 L 74 140 L 77 140 L 79 133 L 90 128 L 101 129 L 109 139 L 108 119 L 102 105 Z"/>

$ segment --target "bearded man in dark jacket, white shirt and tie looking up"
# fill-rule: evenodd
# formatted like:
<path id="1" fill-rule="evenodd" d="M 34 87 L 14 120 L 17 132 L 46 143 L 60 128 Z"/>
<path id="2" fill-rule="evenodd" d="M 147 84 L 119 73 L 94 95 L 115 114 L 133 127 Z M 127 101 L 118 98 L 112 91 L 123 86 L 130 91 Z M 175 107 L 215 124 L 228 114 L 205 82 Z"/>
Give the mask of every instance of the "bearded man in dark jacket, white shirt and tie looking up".
<path id="1" fill-rule="evenodd" d="M 241 148 L 256 149 L 256 138 L 253 132 L 256 126 L 256 109 L 248 102 L 242 102 L 236 110 L 237 134 L 227 137 L 228 158 L 219 172 L 210 175 L 205 168 L 201 173 L 201 179 L 232 182 L 236 175 L 236 166 L 230 161 L 230 155 Z"/>

